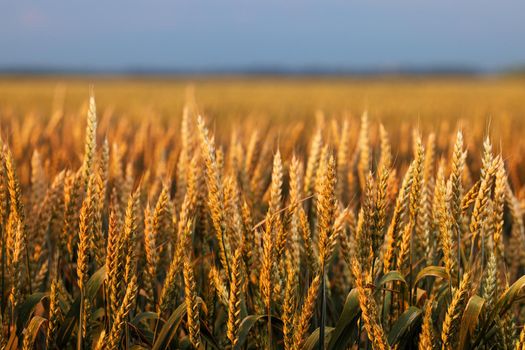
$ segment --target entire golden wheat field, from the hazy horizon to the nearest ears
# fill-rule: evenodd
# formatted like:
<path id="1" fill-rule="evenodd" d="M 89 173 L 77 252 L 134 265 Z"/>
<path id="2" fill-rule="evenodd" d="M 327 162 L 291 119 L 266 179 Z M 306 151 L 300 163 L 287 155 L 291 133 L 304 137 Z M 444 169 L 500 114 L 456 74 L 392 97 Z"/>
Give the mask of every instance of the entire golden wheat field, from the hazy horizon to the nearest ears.
<path id="1" fill-rule="evenodd" d="M 525 349 L 525 80 L 0 78 L 2 349 Z"/>

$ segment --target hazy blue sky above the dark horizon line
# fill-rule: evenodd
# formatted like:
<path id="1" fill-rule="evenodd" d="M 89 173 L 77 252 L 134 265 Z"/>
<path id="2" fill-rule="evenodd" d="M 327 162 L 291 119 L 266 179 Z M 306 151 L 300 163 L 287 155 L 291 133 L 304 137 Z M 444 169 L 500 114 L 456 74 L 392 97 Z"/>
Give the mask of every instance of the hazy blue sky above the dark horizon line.
<path id="1" fill-rule="evenodd" d="M 523 0 L 0 2 L 0 68 L 524 63 Z"/>

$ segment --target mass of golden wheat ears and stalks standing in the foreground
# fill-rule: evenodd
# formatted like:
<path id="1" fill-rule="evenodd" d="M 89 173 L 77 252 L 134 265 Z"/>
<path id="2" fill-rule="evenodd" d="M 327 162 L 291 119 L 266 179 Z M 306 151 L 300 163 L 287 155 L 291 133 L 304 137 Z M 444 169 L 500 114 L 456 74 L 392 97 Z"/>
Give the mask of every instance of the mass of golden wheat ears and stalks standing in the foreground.
<path id="1" fill-rule="evenodd" d="M 188 107 L 108 140 L 86 109 L 80 156 L 60 117 L 2 142 L 2 349 L 525 349 L 523 205 L 488 137 L 393 152 L 364 113 L 221 146 Z"/>

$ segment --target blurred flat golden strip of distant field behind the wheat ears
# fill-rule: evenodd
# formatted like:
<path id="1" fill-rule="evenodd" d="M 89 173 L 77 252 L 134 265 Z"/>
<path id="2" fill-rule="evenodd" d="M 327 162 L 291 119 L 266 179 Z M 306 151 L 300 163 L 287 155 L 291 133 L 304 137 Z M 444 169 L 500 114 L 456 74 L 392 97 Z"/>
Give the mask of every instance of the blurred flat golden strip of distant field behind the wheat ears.
<path id="1" fill-rule="evenodd" d="M 89 87 L 97 103 L 117 116 L 180 115 L 188 95 L 208 118 L 249 116 L 268 121 L 310 121 L 316 110 L 331 116 L 360 115 L 384 124 L 403 120 L 434 127 L 443 120 L 470 120 L 500 129 L 522 123 L 525 78 L 504 77 L 0 77 L 2 114 L 37 113 L 46 118 L 53 103 L 76 112 Z M 502 125 L 503 123 L 503 125 Z"/>

